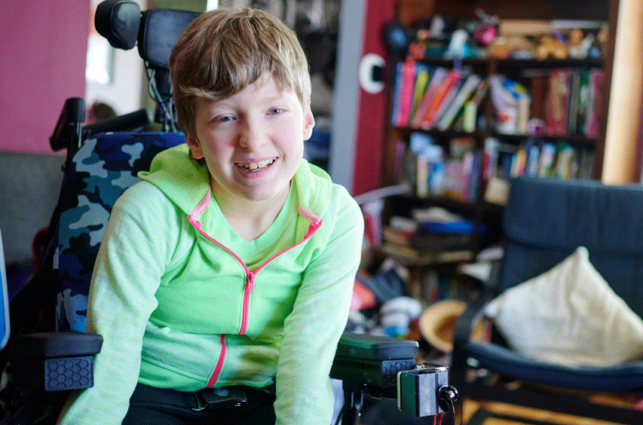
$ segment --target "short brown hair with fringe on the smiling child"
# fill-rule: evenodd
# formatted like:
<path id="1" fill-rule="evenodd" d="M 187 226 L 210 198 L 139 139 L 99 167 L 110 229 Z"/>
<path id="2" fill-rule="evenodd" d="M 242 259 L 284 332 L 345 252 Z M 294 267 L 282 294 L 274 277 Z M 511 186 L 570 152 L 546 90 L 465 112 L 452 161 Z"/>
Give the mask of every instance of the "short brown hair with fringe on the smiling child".
<path id="1" fill-rule="evenodd" d="M 310 74 L 297 35 L 259 9 L 218 9 L 197 17 L 170 55 L 170 75 L 181 130 L 196 137 L 199 97 L 224 99 L 259 79 L 264 71 L 302 105 L 310 99 Z"/>

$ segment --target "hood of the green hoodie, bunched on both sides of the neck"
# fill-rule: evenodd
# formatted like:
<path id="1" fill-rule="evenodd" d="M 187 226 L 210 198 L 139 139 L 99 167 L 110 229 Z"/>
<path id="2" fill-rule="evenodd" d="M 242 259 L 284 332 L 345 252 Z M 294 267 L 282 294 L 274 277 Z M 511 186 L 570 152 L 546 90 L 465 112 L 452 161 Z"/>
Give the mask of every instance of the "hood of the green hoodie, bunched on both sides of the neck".
<path id="1" fill-rule="evenodd" d="M 192 214 L 209 194 L 208 168 L 190 158 L 187 144 L 159 153 L 152 160 L 150 171 L 141 171 L 138 176 L 161 190 L 186 215 Z M 321 217 L 331 198 L 330 176 L 321 168 L 302 160 L 293 184 L 300 214 L 313 221 L 312 217 Z"/>

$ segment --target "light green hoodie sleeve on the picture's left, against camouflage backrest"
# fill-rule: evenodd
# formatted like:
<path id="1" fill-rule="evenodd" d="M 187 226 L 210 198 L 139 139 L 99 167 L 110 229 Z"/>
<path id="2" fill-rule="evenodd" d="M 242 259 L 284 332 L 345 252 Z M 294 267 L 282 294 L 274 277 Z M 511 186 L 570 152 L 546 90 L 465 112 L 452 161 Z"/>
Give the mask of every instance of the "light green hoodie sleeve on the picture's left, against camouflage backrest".
<path id="1" fill-rule="evenodd" d="M 157 306 L 154 294 L 176 245 L 177 224 L 171 222 L 176 214 L 165 213 L 167 204 L 158 189 L 141 183 L 114 205 L 88 300 L 87 332 L 103 337 L 94 386 L 70 396 L 59 424 L 116 425 L 127 414 L 139 376 L 145 326 Z"/>

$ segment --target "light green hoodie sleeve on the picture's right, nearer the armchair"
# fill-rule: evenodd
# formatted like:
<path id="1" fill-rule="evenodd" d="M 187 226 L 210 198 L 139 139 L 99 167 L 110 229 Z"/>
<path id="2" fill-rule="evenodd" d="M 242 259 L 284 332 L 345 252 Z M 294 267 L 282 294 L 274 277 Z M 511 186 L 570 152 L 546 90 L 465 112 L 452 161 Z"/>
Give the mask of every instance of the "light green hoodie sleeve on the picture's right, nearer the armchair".
<path id="1" fill-rule="evenodd" d="M 338 198 L 334 217 L 323 217 L 330 229 L 328 244 L 308 265 L 284 324 L 276 376 L 277 424 L 328 425 L 332 420 L 330 368 L 348 320 L 364 235 L 357 203 L 343 188 Z"/>

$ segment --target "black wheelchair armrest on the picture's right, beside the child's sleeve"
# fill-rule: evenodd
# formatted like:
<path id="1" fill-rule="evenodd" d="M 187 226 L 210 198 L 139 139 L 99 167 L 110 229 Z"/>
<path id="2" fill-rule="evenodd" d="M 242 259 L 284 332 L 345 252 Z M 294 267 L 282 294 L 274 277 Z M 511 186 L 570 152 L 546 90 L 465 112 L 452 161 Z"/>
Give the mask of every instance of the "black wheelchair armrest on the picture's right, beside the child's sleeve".
<path id="1" fill-rule="evenodd" d="M 394 388 L 397 373 L 415 366 L 419 344 L 399 338 L 344 333 L 331 378 L 379 388 Z"/>

